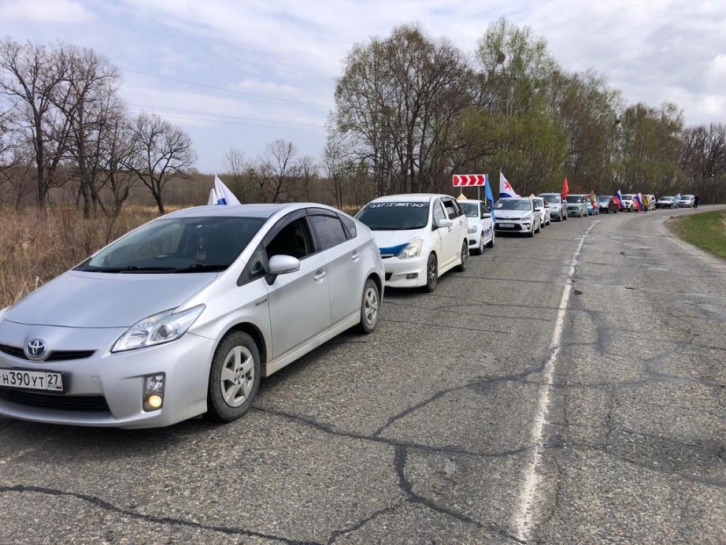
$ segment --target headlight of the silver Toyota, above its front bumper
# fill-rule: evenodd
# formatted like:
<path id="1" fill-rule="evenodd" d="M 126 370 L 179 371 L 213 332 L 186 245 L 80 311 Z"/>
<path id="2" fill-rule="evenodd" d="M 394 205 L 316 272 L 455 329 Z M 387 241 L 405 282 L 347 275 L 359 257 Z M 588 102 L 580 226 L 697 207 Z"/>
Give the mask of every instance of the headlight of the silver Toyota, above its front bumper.
<path id="1" fill-rule="evenodd" d="M 199 305 L 176 313 L 174 310 L 167 310 L 144 318 L 121 335 L 111 352 L 124 352 L 175 341 L 192 327 L 204 308 L 204 305 Z"/>

